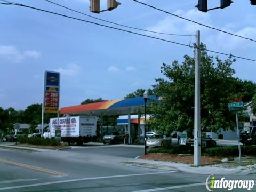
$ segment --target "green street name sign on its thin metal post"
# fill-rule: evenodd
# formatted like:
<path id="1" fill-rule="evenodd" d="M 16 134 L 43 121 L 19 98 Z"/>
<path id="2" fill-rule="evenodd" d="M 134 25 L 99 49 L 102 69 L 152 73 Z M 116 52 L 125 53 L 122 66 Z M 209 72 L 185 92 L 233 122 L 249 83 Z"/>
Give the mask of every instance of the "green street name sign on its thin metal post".
<path id="1" fill-rule="evenodd" d="M 236 129 L 237 129 L 237 140 L 238 140 L 238 151 L 239 151 L 239 163 L 242 164 L 242 157 L 241 157 L 241 147 L 240 147 L 240 132 L 239 132 L 239 124 L 238 124 L 238 111 L 243 111 L 243 102 L 232 102 L 228 103 L 229 111 L 236 112 Z"/>

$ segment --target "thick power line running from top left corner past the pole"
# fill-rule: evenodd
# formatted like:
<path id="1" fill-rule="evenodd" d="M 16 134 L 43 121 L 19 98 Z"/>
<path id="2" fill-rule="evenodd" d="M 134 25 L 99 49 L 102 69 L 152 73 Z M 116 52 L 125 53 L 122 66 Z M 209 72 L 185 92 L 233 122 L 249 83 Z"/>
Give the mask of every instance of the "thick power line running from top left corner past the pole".
<path id="1" fill-rule="evenodd" d="M 5 0 L 0 0 L 0 1 L 7 2 L 7 1 L 5 1 Z M 6 3 L 0 3 L 0 4 L 4 4 L 4 5 L 18 5 L 18 6 L 22 6 L 22 7 L 27 7 L 27 8 L 30 8 L 30 9 L 37 10 L 37 11 L 43 11 L 43 12 L 46 12 L 46 13 L 51 13 L 51 14 L 55 14 L 55 15 L 62 16 L 62 17 L 66 17 L 66 18 L 69 18 L 69 19 L 74 19 L 74 20 L 78 20 L 78 21 L 83 21 L 83 22 L 87 22 L 87 23 L 94 24 L 94 25 L 98 25 L 98 26 L 102 26 L 102 27 L 107 27 L 107 28 L 111 28 L 111 29 L 116 29 L 116 30 L 119 30 L 119 31 L 124 31 L 124 32 L 126 32 L 126 33 L 131 33 L 131 34 L 135 34 L 135 35 L 140 35 L 140 36 L 144 36 L 144 37 L 149 37 L 149 38 L 157 39 L 157 40 L 160 40 L 160 41 L 169 42 L 169 43 L 174 43 L 174 44 L 178 44 L 178 45 L 182 45 L 182 46 L 187 46 L 187 47 L 190 47 L 190 48 L 191 48 L 190 45 L 186 45 L 186 44 L 183 44 L 183 43 L 173 42 L 173 41 L 169 41 L 169 40 L 167 40 L 167 39 L 162 39 L 162 38 L 153 37 L 153 36 L 149 36 L 149 35 L 139 34 L 139 33 L 133 32 L 133 31 L 129 31 L 129 30 L 125 30 L 125 29 L 120 29 L 120 28 L 116 28 L 116 27 L 106 26 L 106 25 L 102 25 L 102 24 L 100 24 L 100 23 L 96 23 L 96 22 L 92 22 L 92 21 L 87 21 L 87 20 L 79 19 L 79 18 L 74 18 L 74 17 L 68 16 L 68 15 L 63 15 L 63 14 L 60 14 L 60 13 L 55 13 L 55 12 L 52 12 L 52 11 L 47 11 L 47 10 L 39 9 L 39 8 L 37 8 L 37 7 L 32 7 L 32 6 L 28 6 L 28 5 L 23 5 L 23 4 L 20 4 L 20 3 L 11 3 L 11 2 L 9 2 L 8 4 L 6 4 Z M 236 56 L 236 55 L 233 55 L 233 54 L 227 54 L 227 53 L 222 53 L 222 52 L 212 51 L 212 50 L 202 49 L 202 48 L 200 48 L 200 49 L 201 49 L 202 51 L 209 51 L 209 52 L 213 52 L 213 53 L 218 53 L 218 54 L 222 54 L 222 55 L 227 55 L 227 56 L 231 56 L 231 57 L 235 57 L 235 58 L 239 58 L 239 59 L 244 59 L 244 60 L 249 60 L 249 61 L 254 61 L 254 62 L 256 62 L 256 60 L 254 60 L 254 59 L 239 57 L 239 56 Z"/>

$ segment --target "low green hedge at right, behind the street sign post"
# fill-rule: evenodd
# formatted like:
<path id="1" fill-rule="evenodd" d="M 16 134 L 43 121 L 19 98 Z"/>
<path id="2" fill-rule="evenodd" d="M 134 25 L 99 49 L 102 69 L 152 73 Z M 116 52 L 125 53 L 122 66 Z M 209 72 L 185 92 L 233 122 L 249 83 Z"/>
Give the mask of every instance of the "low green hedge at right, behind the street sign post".
<path id="1" fill-rule="evenodd" d="M 256 146 L 241 146 L 241 154 L 256 155 Z M 238 146 L 208 148 L 205 149 L 204 155 L 209 157 L 238 156 Z"/>

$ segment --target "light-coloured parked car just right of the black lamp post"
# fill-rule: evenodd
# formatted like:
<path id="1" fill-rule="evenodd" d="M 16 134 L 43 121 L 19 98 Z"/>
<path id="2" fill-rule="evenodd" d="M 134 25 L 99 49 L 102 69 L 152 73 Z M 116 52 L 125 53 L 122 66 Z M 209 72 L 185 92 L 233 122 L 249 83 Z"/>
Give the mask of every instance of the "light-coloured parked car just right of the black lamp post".
<path id="1" fill-rule="evenodd" d="M 146 147 L 164 147 L 171 146 L 172 138 L 162 134 L 154 134 L 147 139 Z"/>

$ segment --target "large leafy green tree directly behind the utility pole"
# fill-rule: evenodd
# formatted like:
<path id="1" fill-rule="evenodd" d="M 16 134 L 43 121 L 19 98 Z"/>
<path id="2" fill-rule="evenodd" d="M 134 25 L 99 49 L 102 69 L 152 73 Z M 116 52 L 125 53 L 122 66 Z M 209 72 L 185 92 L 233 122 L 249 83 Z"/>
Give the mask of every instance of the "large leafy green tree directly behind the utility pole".
<path id="1" fill-rule="evenodd" d="M 206 46 L 201 44 L 203 49 Z M 238 79 L 234 78 L 235 70 L 231 64 L 235 59 L 228 57 L 221 61 L 218 57 L 209 56 L 201 51 L 201 129 L 217 131 L 220 128 L 233 129 L 233 116 L 228 110 L 228 102 L 241 93 L 237 88 Z M 180 64 L 163 63 L 161 73 L 165 78 L 156 79 L 153 90 L 161 102 L 153 102 L 150 113 L 151 121 L 159 130 L 194 129 L 194 80 L 195 57 L 184 56 Z"/>

